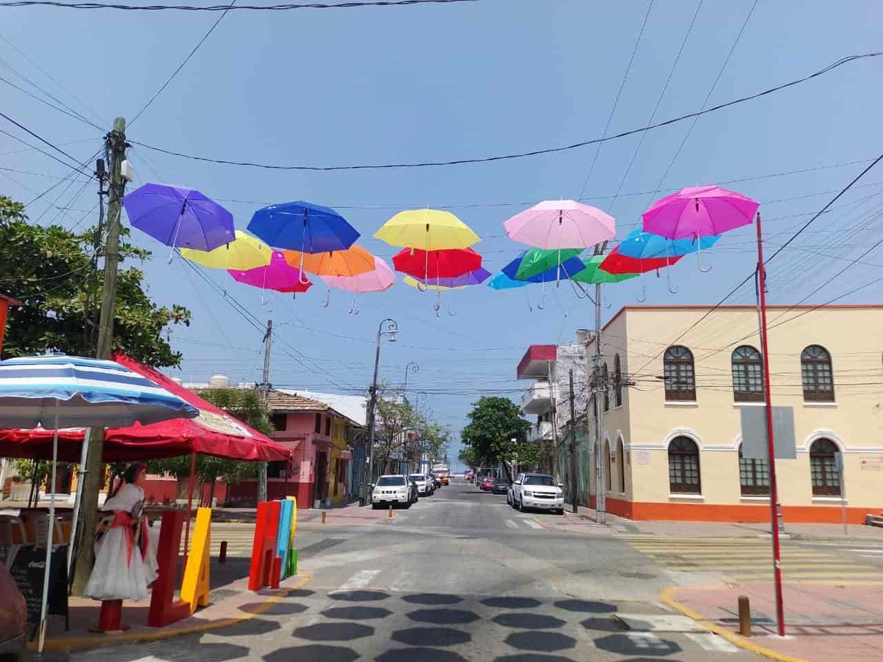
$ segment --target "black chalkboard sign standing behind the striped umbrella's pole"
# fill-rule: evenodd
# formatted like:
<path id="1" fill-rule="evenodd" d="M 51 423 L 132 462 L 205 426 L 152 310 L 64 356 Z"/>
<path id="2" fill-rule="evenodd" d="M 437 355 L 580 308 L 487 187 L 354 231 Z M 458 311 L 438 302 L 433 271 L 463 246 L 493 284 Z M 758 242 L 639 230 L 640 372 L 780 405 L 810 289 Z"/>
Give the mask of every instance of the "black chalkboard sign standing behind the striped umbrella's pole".
<path id="1" fill-rule="evenodd" d="M 40 622 L 43 597 L 43 568 L 46 548 L 23 546 L 15 555 L 10 574 L 27 603 L 27 622 Z M 47 613 L 67 616 L 67 545 L 57 545 L 52 551 L 52 576 L 49 581 Z"/>

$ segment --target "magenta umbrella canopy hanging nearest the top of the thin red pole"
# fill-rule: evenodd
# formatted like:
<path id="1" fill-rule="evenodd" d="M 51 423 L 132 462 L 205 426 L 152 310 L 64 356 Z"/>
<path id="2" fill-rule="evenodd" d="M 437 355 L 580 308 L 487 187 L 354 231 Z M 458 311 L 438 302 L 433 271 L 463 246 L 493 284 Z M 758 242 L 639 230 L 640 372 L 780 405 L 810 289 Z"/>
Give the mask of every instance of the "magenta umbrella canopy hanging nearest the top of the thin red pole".
<path id="1" fill-rule="evenodd" d="M 659 199 L 643 215 L 645 232 L 681 239 L 713 237 L 750 225 L 760 204 L 720 186 L 692 186 Z"/>

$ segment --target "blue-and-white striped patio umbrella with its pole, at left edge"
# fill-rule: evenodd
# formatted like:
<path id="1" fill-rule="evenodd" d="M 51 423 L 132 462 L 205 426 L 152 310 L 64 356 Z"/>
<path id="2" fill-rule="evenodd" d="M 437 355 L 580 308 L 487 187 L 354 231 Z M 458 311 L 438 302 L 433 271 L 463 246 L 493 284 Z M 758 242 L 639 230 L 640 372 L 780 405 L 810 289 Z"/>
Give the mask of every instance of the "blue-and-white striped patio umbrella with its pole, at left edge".
<path id="1" fill-rule="evenodd" d="M 94 358 L 45 356 L 0 361 L 0 426 L 51 427 L 52 470 L 55 485 L 58 429 L 99 425 L 148 425 L 171 418 L 194 418 L 199 410 L 177 395 L 113 361 Z M 55 524 L 55 490 L 49 497 L 49 530 L 37 650 L 43 650 L 46 607 Z"/>

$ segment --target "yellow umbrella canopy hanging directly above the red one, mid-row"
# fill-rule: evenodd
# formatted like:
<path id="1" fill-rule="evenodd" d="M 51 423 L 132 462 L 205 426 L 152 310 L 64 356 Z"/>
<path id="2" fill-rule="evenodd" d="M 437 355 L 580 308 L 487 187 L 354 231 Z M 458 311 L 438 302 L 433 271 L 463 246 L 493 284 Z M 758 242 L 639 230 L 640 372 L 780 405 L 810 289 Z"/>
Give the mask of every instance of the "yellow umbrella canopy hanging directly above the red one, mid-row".
<path id="1" fill-rule="evenodd" d="M 424 251 L 468 248 L 480 239 L 468 225 L 439 209 L 407 209 L 383 223 L 374 237 L 390 246 L 413 246 Z"/>

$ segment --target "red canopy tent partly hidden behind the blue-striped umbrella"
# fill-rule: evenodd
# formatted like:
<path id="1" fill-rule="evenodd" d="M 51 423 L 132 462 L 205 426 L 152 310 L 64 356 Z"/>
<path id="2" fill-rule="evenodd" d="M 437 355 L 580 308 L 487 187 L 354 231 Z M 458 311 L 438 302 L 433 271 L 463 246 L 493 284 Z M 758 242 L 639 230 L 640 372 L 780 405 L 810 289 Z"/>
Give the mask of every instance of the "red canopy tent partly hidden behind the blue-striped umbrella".
<path id="1" fill-rule="evenodd" d="M 104 433 L 104 462 L 152 460 L 202 453 L 233 460 L 283 461 L 291 451 L 264 434 L 238 421 L 192 391 L 170 380 L 162 372 L 117 354 L 114 360 L 138 372 L 160 387 L 178 395 L 200 410 L 197 418 L 174 418 L 154 425 L 112 427 Z M 58 459 L 79 462 L 84 431 L 72 428 L 58 433 Z M 50 459 L 52 431 L 0 430 L 0 457 Z"/>

